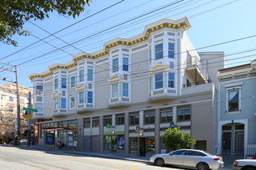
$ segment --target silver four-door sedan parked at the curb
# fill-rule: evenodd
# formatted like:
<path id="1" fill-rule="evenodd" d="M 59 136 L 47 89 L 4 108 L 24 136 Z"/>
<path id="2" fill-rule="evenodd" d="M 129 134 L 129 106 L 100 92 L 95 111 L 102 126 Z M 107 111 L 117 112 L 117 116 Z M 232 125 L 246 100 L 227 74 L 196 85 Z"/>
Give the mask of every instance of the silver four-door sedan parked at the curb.
<path id="1" fill-rule="evenodd" d="M 179 149 L 168 154 L 153 155 L 150 162 L 158 166 L 168 164 L 200 170 L 223 168 L 224 165 L 222 157 L 195 149 Z"/>

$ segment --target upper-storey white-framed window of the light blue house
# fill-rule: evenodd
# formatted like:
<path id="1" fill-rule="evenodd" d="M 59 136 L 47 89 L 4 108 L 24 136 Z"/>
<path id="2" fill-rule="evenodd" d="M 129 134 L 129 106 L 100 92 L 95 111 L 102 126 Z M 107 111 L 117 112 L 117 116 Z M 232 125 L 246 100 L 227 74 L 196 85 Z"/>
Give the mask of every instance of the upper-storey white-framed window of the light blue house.
<path id="1" fill-rule="evenodd" d="M 238 112 L 241 110 L 240 87 L 227 88 L 227 112 Z"/>

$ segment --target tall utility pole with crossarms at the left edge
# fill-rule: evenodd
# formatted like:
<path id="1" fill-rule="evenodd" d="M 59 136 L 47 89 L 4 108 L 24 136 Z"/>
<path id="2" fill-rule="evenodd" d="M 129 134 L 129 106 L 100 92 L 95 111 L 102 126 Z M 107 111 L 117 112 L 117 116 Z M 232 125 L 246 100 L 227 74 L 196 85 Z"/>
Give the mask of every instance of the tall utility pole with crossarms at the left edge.
<path id="1" fill-rule="evenodd" d="M 1 63 L 0 64 L 4 65 L 4 66 L 12 66 L 11 68 L 15 68 L 15 70 L 12 70 L 11 68 L 4 68 L 4 66 L 0 67 L 0 70 L 4 70 L 5 72 L 9 71 L 9 72 L 12 72 L 12 73 L 16 73 L 16 81 L 12 81 L 12 80 L 8 80 L 7 77 L 0 77 L 0 80 L 3 80 L 3 81 L 8 81 L 8 82 L 11 82 L 11 83 L 16 83 L 16 93 L 17 93 L 17 124 L 18 124 L 18 127 L 17 127 L 17 138 L 20 138 L 20 104 L 19 104 L 19 83 L 18 83 L 18 68 L 17 68 L 17 65 L 14 66 L 14 65 L 11 65 L 9 63 Z M 15 130 L 16 132 L 16 130 Z M 15 137 L 15 145 L 18 145 L 18 141 L 17 141 L 17 138 Z"/>

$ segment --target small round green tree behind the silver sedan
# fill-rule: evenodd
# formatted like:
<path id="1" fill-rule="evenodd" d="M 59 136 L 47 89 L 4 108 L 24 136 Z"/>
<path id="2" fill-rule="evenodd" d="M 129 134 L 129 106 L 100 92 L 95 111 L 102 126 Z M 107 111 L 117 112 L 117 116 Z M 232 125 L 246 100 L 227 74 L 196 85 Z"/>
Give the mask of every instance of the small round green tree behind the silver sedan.
<path id="1" fill-rule="evenodd" d="M 181 148 L 190 148 L 195 145 L 195 140 L 190 133 L 184 134 L 180 128 L 168 128 L 165 134 L 161 135 L 165 147 L 168 151 L 175 151 Z"/>

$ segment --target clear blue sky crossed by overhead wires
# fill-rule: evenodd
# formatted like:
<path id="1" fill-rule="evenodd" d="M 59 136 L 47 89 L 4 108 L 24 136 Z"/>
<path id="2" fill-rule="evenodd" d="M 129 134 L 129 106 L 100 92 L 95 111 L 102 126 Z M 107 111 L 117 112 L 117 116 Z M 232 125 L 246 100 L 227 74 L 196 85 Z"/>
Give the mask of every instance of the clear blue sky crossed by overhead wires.
<path id="1" fill-rule="evenodd" d="M 119 4 L 114 5 L 118 2 Z M 172 3 L 175 4 L 171 5 Z M 111 5 L 114 6 L 94 15 L 96 12 Z M 169 6 L 164 8 L 164 5 Z M 157 10 L 158 8 L 162 9 Z M 39 40 L 36 37 L 43 39 L 49 34 L 32 23 L 26 22 L 24 29 L 27 29 L 31 36 L 15 36 L 19 47 L 0 43 L 0 58 L 8 56 L 2 59 L 1 62 L 18 65 L 19 85 L 33 87 L 28 77 L 29 73 L 43 73 L 48 70 L 48 66 L 51 64 L 70 62 L 71 55 L 76 55 L 81 51 L 95 52 L 103 48 L 104 42 L 116 37 L 129 38 L 137 36 L 143 32 L 144 26 L 151 22 L 164 18 L 180 19 L 187 16 L 192 28 L 186 32 L 195 49 L 254 36 L 199 50 L 199 52 L 224 51 L 227 55 L 227 67 L 237 66 L 250 63 L 251 60 L 256 58 L 256 55 L 254 55 L 256 53 L 256 50 L 254 50 L 256 49 L 255 9 L 256 1 L 254 0 L 92 0 L 90 7 L 76 19 L 69 16 L 64 17 L 58 15 L 57 12 L 53 12 L 50 14 L 50 19 L 36 22 L 31 20 L 36 26 L 40 26 L 47 32 L 54 33 L 89 17 L 55 34 L 55 36 L 68 43 L 84 39 L 74 43 L 73 46 L 75 48 L 67 46 L 62 49 L 65 51 L 64 53 L 59 49 L 62 46 L 66 46 L 66 44 L 54 36 L 44 40 L 59 49 L 43 41 L 29 46 Z M 93 16 L 91 17 L 91 15 Z M 140 15 L 144 16 L 139 17 Z M 133 20 L 130 21 L 131 19 Z M 117 26 L 119 24 L 121 25 Z M 113 26 L 115 27 L 112 28 Z M 26 46 L 29 47 L 19 51 Z M 51 51 L 54 51 L 54 53 L 50 53 Z M 35 57 L 38 58 L 33 59 Z M 26 62 L 29 59 L 33 60 Z M 1 64 L 0 66 L 2 67 Z M 4 71 L 0 73 L 1 77 L 15 80 L 12 75 Z M 2 80 L 0 82 L 1 84 L 6 83 Z"/>

